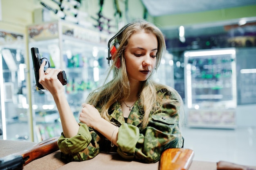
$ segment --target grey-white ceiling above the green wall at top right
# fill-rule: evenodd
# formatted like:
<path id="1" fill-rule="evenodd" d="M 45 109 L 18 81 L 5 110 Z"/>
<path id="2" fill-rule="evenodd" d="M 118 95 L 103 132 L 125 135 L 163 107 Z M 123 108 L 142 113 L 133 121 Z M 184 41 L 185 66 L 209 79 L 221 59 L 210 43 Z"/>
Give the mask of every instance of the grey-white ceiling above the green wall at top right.
<path id="1" fill-rule="evenodd" d="M 256 0 L 141 0 L 152 16 L 195 13 L 242 7 L 256 4 Z"/>

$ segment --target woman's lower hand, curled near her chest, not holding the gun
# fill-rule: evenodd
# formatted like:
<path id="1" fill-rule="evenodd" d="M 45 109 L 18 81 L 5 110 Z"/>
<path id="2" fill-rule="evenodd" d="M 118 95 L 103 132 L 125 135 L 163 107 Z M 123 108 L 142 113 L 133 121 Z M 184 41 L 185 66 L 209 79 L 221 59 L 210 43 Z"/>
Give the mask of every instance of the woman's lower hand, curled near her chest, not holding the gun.
<path id="1" fill-rule="evenodd" d="M 99 111 L 97 108 L 90 104 L 82 104 L 82 106 L 83 108 L 79 115 L 79 121 L 86 124 L 87 126 L 94 128 L 95 125 L 99 122 L 99 119 L 102 119 Z"/>

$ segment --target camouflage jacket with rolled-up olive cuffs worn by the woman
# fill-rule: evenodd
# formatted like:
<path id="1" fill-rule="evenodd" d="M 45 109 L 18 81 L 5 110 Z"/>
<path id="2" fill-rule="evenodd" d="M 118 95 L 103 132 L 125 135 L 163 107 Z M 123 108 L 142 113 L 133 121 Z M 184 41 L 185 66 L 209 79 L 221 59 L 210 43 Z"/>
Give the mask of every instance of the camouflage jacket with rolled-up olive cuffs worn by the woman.
<path id="1" fill-rule="evenodd" d="M 168 99 L 171 92 L 158 91 L 159 96 Z M 63 133 L 58 146 L 65 161 L 84 161 L 94 158 L 99 152 L 117 152 L 128 160 L 144 163 L 159 161 L 161 153 L 167 148 L 182 148 L 183 137 L 178 126 L 179 114 L 173 109 L 160 109 L 152 113 L 148 125 L 142 128 L 144 111 L 138 100 L 125 122 L 120 103 L 109 109 L 110 121 L 119 126 L 117 144 L 112 148 L 110 141 L 96 130 L 79 124 L 79 131 L 72 138 L 65 138 Z"/>

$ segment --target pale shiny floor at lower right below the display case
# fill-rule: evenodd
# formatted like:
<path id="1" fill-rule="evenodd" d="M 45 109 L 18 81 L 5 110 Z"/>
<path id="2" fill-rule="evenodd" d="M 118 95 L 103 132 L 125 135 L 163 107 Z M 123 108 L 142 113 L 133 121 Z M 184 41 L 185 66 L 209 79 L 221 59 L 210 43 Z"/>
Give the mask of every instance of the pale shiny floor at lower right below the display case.
<path id="1" fill-rule="evenodd" d="M 229 161 L 256 166 L 256 127 L 223 129 L 182 129 L 184 148 L 193 149 L 193 160 Z"/>

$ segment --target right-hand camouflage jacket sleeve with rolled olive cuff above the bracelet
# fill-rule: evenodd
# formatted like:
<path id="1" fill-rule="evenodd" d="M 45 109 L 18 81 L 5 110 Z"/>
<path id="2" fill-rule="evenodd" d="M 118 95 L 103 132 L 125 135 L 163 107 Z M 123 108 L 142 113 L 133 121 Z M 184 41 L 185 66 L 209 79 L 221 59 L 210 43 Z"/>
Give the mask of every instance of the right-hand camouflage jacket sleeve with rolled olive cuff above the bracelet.
<path id="1" fill-rule="evenodd" d="M 183 137 L 177 123 L 177 114 L 158 113 L 142 130 L 131 124 L 122 124 L 118 131 L 117 152 L 124 159 L 155 163 L 163 150 L 182 147 Z"/>

